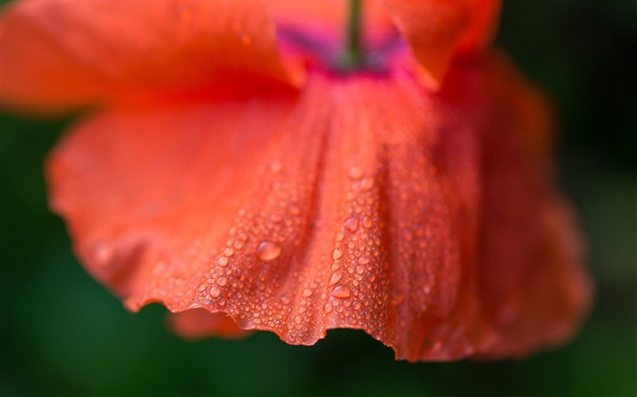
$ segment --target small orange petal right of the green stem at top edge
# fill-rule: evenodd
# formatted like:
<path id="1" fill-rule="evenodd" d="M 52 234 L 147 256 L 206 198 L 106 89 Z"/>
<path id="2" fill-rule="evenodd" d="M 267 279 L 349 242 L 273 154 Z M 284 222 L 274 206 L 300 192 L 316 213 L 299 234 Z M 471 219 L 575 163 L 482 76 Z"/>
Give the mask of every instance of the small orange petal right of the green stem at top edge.
<path id="1" fill-rule="evenodd" d="M 440 88 L 452 58 L 489 44 L 498 0 L 384 0 L 389 16 L 420 63 L 426 84 Z"/>

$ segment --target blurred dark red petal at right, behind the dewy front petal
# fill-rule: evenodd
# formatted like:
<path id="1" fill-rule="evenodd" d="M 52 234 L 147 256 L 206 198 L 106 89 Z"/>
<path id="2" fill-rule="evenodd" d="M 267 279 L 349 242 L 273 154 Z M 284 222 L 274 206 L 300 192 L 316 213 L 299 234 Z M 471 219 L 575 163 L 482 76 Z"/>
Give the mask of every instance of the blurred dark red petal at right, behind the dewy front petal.
<path id="1" fill-rule="evenodd" d="M 480 301 L 500 340 L 490 357 L 569 338 L 591 303 L 581 235 L 553 188 L 545 98 L 501 55 L 457 65 L 442 94 L 482 142 Z"/>

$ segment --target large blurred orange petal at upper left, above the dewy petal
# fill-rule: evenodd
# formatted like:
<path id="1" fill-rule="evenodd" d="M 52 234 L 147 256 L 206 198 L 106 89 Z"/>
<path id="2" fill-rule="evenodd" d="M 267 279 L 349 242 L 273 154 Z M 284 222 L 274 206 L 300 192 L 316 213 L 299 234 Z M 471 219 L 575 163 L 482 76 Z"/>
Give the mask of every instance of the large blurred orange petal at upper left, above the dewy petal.
<path id="1" fill-rule="evenodd" d="M 288 84 L 258 1 L 18 1 L 0 19 L 3 106 L 55 112 Z"/>

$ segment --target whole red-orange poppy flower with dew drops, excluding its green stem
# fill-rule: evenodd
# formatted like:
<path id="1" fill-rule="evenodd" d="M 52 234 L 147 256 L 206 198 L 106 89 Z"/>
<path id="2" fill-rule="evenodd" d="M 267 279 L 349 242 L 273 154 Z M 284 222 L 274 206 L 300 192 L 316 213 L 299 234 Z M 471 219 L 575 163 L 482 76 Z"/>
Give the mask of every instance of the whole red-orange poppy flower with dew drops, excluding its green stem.
<path id="1" fill-rule="evenodd" d="M 410 361 L 568 338 L 590 283 L 496 1 L 18 1 L 2 103 L 90 108 L 47 166 L 88 272 L 177 332 L 355 328 Z"/>

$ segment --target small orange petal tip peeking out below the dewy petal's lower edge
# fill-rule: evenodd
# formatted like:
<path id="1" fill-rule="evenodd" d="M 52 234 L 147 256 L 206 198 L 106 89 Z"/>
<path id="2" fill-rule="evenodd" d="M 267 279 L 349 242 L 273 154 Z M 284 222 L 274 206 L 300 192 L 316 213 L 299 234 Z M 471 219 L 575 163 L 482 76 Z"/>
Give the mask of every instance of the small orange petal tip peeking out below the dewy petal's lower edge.
<path id="1" fill-rule="evenodd" d="M 191 309 L 186 312 L 168 314 L 169 326 L 187 339 L 202 339 L 208 336 L 220 336 L 227 339 L 245 338 L 250 334 L 243 331 L 223 313 L 209 313 L 204 309 Z"/>

